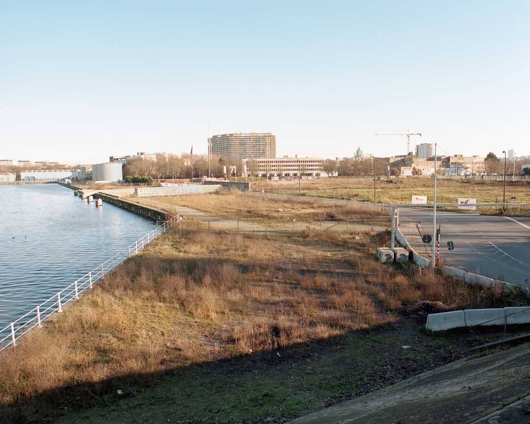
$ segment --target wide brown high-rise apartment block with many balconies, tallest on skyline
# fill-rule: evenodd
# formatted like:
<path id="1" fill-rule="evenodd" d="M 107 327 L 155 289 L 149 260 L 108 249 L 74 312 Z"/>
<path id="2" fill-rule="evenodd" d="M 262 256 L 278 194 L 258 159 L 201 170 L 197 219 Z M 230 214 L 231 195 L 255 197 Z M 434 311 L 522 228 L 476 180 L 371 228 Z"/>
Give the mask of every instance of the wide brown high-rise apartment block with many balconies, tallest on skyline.
<path id="1" fill-rule="evenodd" d="M 212 136 L 208 139 L 208 153 L 231 160 L 276 157 L 276 136 L 271 133 Z"/>

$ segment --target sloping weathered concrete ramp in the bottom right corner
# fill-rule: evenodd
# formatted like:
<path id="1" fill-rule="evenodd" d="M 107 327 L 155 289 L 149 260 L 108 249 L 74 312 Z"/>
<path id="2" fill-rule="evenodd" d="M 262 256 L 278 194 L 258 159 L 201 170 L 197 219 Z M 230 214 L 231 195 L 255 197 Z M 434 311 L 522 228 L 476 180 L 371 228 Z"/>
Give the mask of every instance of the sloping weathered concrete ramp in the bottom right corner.
<path id="1" fill-rule="evenodd" d="M 292 424 L 472 423 L 530 390 L 530 344 L 461 359 Z"/>

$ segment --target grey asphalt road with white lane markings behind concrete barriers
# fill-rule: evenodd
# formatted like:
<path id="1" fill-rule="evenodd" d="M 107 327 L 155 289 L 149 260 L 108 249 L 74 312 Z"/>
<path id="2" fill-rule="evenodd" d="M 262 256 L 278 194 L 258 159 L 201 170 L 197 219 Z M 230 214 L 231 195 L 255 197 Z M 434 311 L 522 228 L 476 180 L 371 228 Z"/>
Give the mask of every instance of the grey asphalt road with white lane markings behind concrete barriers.
<path id="1" fill-rule="evenodd" d="M 414 250 L 431 256 L 432 210 L 400 208 L 400 228 Z M 523 285 L 530 280 L 530 218 L 437 212 L 440 258 L 447 264 L 480 275 Z M 417 223 L 418 226 L 416 225 Z M 419 227 L 419 231 L 418 231 Z M 447 242 L 455 249 L 449 251 Z"/>

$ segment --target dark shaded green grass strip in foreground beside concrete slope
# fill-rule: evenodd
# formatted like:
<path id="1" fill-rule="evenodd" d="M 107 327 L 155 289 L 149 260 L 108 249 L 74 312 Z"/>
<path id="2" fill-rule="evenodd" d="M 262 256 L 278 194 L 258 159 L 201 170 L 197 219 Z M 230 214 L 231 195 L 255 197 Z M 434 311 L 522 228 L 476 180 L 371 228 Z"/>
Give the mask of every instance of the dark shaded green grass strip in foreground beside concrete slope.
<path id="1" fill-rule="evenodd" d="M 3 405 L 0 422 L 283 422 L 458 357 L 451 341 L 417 330 L 405 319 L 285 349 L 61 386 Z"/>

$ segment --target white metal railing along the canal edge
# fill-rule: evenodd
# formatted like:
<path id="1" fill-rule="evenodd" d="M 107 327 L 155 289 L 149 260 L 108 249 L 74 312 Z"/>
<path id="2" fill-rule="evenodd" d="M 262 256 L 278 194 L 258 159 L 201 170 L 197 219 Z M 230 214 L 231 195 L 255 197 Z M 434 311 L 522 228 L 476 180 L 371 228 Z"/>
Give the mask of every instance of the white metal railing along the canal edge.
<path id="1" fill-rule="evenodd" d="M 37 305 L 31 311 L 25 313 L 19 319 L 0 330 L 0 351 L 10 345 L 16 346 L 16 340 L 21 338 L 25 333 L 36 326 L 42 326 L 42 322 L 56 312 L 63 312 L 63 307 L 66 304 L 78 299 L 83 291 L 91 289 L 96 281 L 103 279 L 105 275 L 111 272 L 120 263 L 142 250 L 157 236 L 164 233 L 178 219 L 179 216 L 177 215 L 172 216 L 162 224 L 157 223 L 153 231 L 147 233 L 142 238 L 138 238 L 138 240 L 129 244 L 125 249 L 120 250 L 112 258 L 99 264 L 92 271 L 87 272 L 84 276 L 77 279 L 63 290 L 58 291 L 55 295 L 51 296 L 40 305 Z"/>

